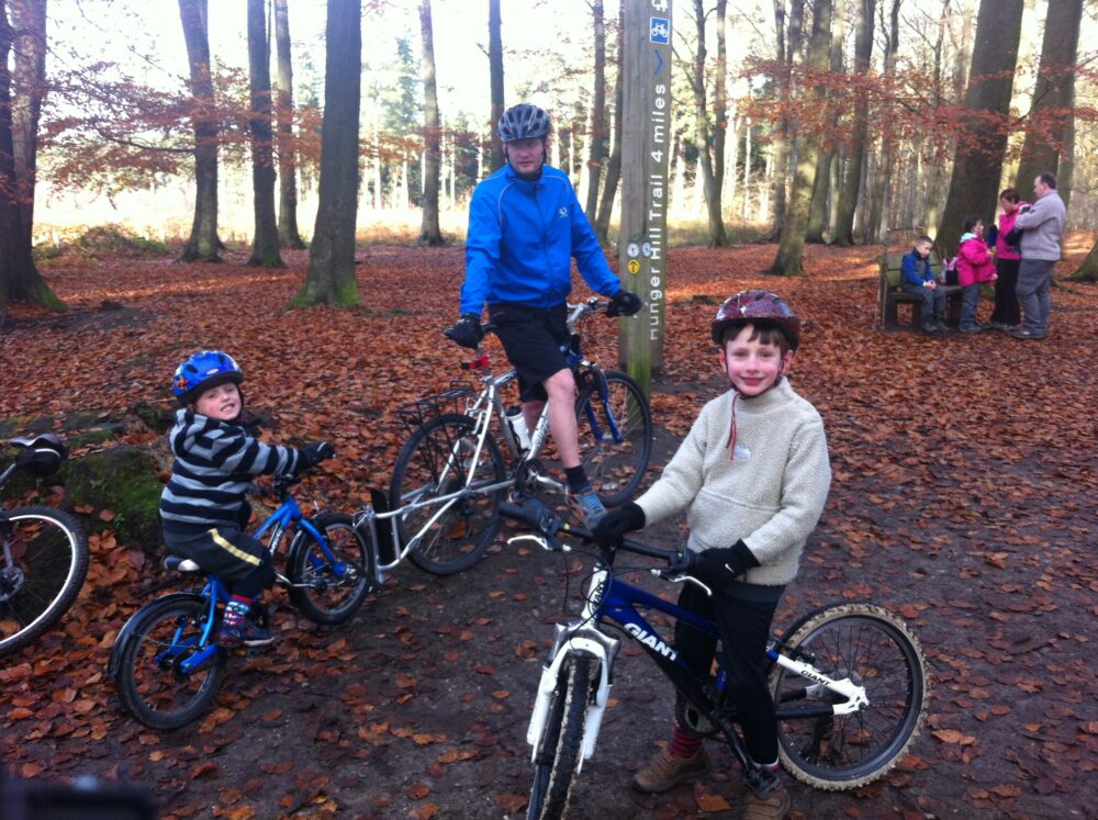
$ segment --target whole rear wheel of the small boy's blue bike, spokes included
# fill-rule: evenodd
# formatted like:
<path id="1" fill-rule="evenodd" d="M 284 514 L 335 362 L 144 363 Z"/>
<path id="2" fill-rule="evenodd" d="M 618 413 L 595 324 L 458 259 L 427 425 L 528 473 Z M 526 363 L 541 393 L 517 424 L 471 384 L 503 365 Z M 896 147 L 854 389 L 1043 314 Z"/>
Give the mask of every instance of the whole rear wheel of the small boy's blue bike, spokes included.
<path id="1" fill-rule="evenodd" d="M 168 595 L 142 607 L 123 630 L 115 685 L 122 706 L 145 726 L 179 729 L 216 697 L 227 654 L 201 644 L 208 614 L 199 595 Z"/>

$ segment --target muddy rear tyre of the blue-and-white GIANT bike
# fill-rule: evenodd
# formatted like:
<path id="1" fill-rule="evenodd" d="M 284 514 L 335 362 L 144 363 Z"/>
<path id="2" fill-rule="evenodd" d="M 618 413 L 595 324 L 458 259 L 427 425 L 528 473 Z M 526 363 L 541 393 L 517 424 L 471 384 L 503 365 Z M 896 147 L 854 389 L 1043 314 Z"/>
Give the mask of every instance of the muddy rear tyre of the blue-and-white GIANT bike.
<path id="1" fill-rule="evenodd" d="M 864 786 L 882 777 L 900 761 L 904 754 L 919 735 L 919 731 L 927 717 L 930 705 L 930 683 L 927 675 L 927 660 L 919 645 L 919 640 L 904 620 L 897 616 L 872 604 L 838 604 L 821 607 L 800 618 L 789 627 L 786 637 L 783 637 L 781 644 L 791 649 L 802 647 L 808 639 L 819 638 L 828 629 L 837 626 L 860 626 L 865 629 L 875 629 L 888 637 L 896 647 L 901 662 L 904 663 L 904 681 L 907 692 L 905 703 L 900 710 L 900 717 L 895 721 L 896 728 L 893 730 L 887 743 L 881 751 L 871 757 L 860 762 L 858 765 L 844 766 L 842 768 L 816 765 L 798 756 L 793 750 L 793 740 L 778 726 L 778 756 L 783 767 L 802 783 L 806 783 L 814 788 L 825 790 L 845 790 Z M 852 647 L 852 642 L 845 645 Z M 810 650 L 809 650 L 810 651 Z M 819 662 L 819 659 L 817 659 Z M 867 661 L 866 661 L 867 662 Z M 827 666 L 817 666 L 825 674 L 830 674 Z M 844 671 L 847 672 L 847 671 Z M 785 670 L 775 664 L 771 670 L 770 688 L 775 703 L 782 682 L 785 677 Z M 833 718 L 833 720 L 864 720 L 865 714 L 872 714 L 874 709 L 887 706 L 877 698 L 874 703 L 874 684 L 879 687 L 881 678 L 867 677 L 863 675 L 864 685 L 867 687 L 870 705 L 865 712 L 855 712 L 845 718 Z M 877 692 L 879 695 L 879 690 Z M 885 699 L 887 700 L 887 699 Z M 781 706 L 778 706 L 781 708 Z M 791 720 L 789 723 L 798 721 Z M 842 723 L 845 729 L 845 724 Z"/>

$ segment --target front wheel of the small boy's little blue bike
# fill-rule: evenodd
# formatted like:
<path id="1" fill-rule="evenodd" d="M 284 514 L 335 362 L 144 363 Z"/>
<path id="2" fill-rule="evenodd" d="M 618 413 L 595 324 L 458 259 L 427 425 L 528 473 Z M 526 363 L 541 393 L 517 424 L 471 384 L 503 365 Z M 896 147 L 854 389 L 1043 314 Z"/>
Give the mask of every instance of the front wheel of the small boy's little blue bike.
<path id="1" fill-rule="evenodd" d="M 373 550 L 368 549 L 349 515 L 322 513 L 311 519 L 324 546 L 299 529 L 290 547 L 290 598 L 305 617 L 335 626 L 348 620 L 373 587 Z"/>

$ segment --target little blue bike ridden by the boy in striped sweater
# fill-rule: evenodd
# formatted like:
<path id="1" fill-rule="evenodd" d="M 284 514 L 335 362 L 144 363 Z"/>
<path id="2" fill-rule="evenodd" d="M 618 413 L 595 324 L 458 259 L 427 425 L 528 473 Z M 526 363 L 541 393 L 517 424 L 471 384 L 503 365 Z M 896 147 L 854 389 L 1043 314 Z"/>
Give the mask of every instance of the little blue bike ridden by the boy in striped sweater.
<path id="1" fill-rule="evenodd" d="M 374 586 L 374 555 L 349 515 L 306 516 L 290 494 L 296 476 L 274 480 L 278 509 L 256 531 L 276 555 L 293 528 L 285 574 L 276 583 L 316 624 L 348 620 Z M 146 604 L 126 621 L 108 673 L 122 706 L 153 729 L 178 729 L 201 717 L 213 703 L 225 676 L 228 651 L 214 638 L 229 593 L 215 575 L 188 559 L 168 555 L 165 566 L 204 579 L 201 588 L 171 593 Z M 260 613 L 266 618 L 266 613 Z"/>

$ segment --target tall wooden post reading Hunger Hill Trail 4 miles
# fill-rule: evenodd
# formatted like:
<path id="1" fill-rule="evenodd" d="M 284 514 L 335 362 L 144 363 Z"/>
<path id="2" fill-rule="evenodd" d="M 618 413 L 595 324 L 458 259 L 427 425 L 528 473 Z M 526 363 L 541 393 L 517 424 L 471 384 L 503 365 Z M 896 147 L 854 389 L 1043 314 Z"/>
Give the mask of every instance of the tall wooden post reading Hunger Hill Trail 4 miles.
<path id="1" fill-rule="evenodd" d="M 619 274 L 645 302 L 621 319 L 620 364 L 646 394 L 663 367 L 668 168 L 671 144 L 671 0 L 627 0 L 621 55 L 621 227 Z"/>

